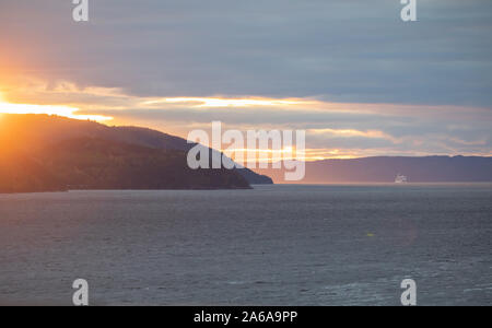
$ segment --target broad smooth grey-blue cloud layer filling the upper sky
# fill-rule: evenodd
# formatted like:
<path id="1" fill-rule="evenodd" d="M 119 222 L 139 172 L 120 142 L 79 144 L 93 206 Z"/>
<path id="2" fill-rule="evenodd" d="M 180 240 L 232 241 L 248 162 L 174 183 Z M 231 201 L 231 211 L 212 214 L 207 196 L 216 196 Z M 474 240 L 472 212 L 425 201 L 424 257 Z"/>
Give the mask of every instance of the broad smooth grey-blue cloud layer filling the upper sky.
<path id="1" fill-rule="evenodd" d="M 4 60 L 50 80 L 155 97 L 492 107 L 490 1 L 421 0 L 413 24 L 394 0 L 105 0 L 87 24 L 71 21 L 70 1 L 0 5 Z"/>

